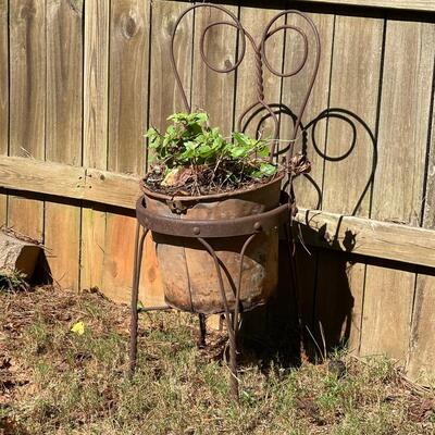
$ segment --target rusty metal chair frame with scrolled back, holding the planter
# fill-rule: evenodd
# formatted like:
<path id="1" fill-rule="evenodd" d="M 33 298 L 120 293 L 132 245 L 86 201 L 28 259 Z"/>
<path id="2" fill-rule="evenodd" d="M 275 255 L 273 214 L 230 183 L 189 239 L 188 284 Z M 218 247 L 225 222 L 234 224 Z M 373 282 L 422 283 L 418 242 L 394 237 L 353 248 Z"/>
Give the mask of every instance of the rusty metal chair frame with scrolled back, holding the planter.
<path id="1" fill-rule="evenodd" d="M 142 261 L 142 251 L 144 251 L 144 243 L 145 243 L 145 237 L 148 234 L 149 231 L 162 235 L 169 235 L 169 236 L 177 236 L 177 237 L 187 237 L 187 238 L 195 238 L 200 243 L 203 248 L 210 253 L 211 258 L 214 261 L 215 265 L 215 272 L 216 272 L 216 279 L 219 282 L 220 288 L 221 288 L 221 296 L 222 296 L 222 303 L 224 307 L 224 314 L 225 314 L 225 321 L 226 321 L 226 327 L 228 332 L 228 337 L 229 337 L 229 369 L 231 369 L 231 391 L 234 398 L 238 397 L 238 380 L 237 380 L 237 361 L 236 361 L 236 352 L 237 352 L 237 332 L 238 332 L 238 326 L 239 326 L 239 315 L 240 315 L 240 303 L 239 303 L 239 298 L 240 298 L 240 282 L 241 282 L 241 274 L 243 274 L 243 262 L 244 262 L 244 256 L 245 252 L 249 246 L 249 244 L 252 241 L 252 239 L 256 237 L 257 234 L 261 232 L 266 232 L 271 228 L 276 228 L 276 227 L 282 227 L 284 226 L 286 228 L 286 235 L 287 235 L 287 241 L 289 245 L 293 245 L 293 239 L 291 239 L 291 234 L 290 234 L 290 225 L 291 225 L 291 220 L 293 216 L 296 213 L 296 203 L 295 203 L 295 194 L 293 190 L 293 178 L 295 176 L 295 173 L 297 173 L 296 166 L 300 163 L 298 159 L 295 160 L 294 157 L 294 144 L 297 138 L 297 133 L 298 129 L 301 126 L 301 117 L 303 114 L 303 111 L 307 107 L 308 98 L 311 94 L 314 79 L 319 70 L 319 63 L 320 63 L 320 38 L 319 38 L 319 33 L 315 28 L 315 25 L 309 18 L 307 15 L 303 13 L 296 11 L 296 10 L 288 10 L 288 11 L 283 11 L 278 13 L 275 17 L 273 17 L 268 25 L 265 26 L 265 29 L 263 32 L 262 38 L 260 42 L 257 45 L 254 41 L 254 38 L 243 27 L 241 23 L 237 20 L 237 17 L 227 9 L 217 5 L 217 4 L 208 4 L 208 3 L 201 3 L 201 4 L 196 4 L 192 5 L 188 9 L 186 9 L 182 15 L 178 17 L 178 20 L 175 23 L 173 33 L 172 33 L 172 38 L 171 38 L 171 57 L 170 61 L 174 71 L 175 75 L 175 80 L 177 83 L 178 89 L 181 91 L 181 95 L 183 97 L 184 105 L 187 112 L 191 112 L 191 107 L 187 100 L 186 92 L 183 88 L 183 84 L 176 67 L 176 62 L 174 58 L 174 40 L 176 37 L 176 30 L 177 27 L 181 23 L 181 21 L 184 18 L 184 16 L 200 8 L 212 8 L 215 10 L 222 11 L 224 14 L 229 16 L 231 21 L 217 21 L 209 24 L 202 32 L 201 37 L 200 37 L 200 54 L 202 61 L 206 63 L 206 65 L 216 72 L 216 73 L 231 73 L 235 71 L 244 60 L 244 55 L 247 49 L 247 40 L 250 42 L 254 57 L 256 57 L 256 82 L 257 82 L 257 101 L 249 105 L 243 113 L 238 116 L 238 122 L 237 122 L 237 129 L 238 130 L 244 130 L 246 128 L 246 124 L 244 125 L 244 120 L 246 120 L 247 115 L 251 113 L 252 111 L 259 110 L 259 111 L 265 111 L 268 116 L 272 119 L 273 125 L 274 125 L 274 135 L 272 138 L 272 145 L 271 145 L 271 159 L 275 157 L 275 148 L 276 144 L 278 141 L 278 134 L 279 134 L 279 120 L 277 114 L 274 112 L 272 109 L 271 104 L 269 104 L 265 101 L 264 97 L 264 87 L 263 87 L 263 67 L 265 66 L 272 74 L 278 76 L 278 77 L 290 77 L 297 75 L 306 65 L 307 59 L 308 59 L 308 53 L 309 53 L 309 44 L 308 44 L 308 37 L 303 29 L 300 27 L 289 25 L 289 24 L 284 24 L 281 26 L 276 26 L 273 28 L 273 25 L 276 23 L 278 18 L 282 16 L 287 17 L 288 15 L 298 15 L 301 17 L 311 28 L 313 39 L 314 39 L 314 63 L 312 66 L 312 74 L 309 78 L 309 83 L 307 86 L 307 94 L 304 95 L 302 99 L 302 103 L 300 107 L 299 112 L 294 116 L 294 132 L 291 137 L 288 139 L 288 147 L 286 151 L 286 172 L 287 172 L 287 181 L 285 183 L 285 187 L 283 190 L 285 194 L 285 200 L 282 201 L 282 203 L 276 207 L 273 210 L 266 211 L 264 213 L 260 214 L 254 214 L 251 216 L 246 216 L 246 217 L 239 217 L 235 220 L 226 220 L 226 221 L 198 221 L 198 220 L 178 220 L 178 219 L 171 219 L 171 217 L 162 217 L 160 215 L 154 214 L 152 211 L 147 209 L 147 204 L 145 201 L 145 198 L 141 197 L 137 201 L 136 206 L 136 216 L 137 216 L 137 231 L 136 231 L 136 245 L 135 245 L 135 265 L 134 265 L 134 274 L 133 274 L 133 291 L 132 291 L 132 323 L 130 323 L 130 364 L 129 364 L 129 370 L 130 373 L 134 372 L 135 366 L 136 366 L 136 357 L 137 357 L 137 325 L 138 325 L 138 313 L 139 311 L 151 311 L 151 310 L 165 310 L 170 309 L 170 306 L 163 306 L 163 307 L 142 307 L 138 308 L 138 289 L 139 289 L 139 277 L 140 277 L 140 264 Z M 239 51 L 239 58 L 235 62 L 235 64 L 228 69 L 224 70 L 219 70 L 211 65 L 209 61 L 207 60 L 206 53 L 204 53 L 204 37 L 207 32 L 212 28 L 213 26 L 216 25 L 229 25 L 234 27 L 239 36 L 240 39 L 240 51 Z M 266 40 L 274 35 L 276 32 L 279 30 L 294 30 L 298 33 L 302 39 L 303 39 L 303 53 L 302 53 L 302 61 L 301 63 L 295 67 L 294 71 L 289 73 L 281 73 L 275 71 L 271 64 L 268 61 L 266 54 L 265 54 L 265 42 Z M 237 237 L 237 236 L 245 236 L 245 243 L 243 244 L 243 248 L 240 250 L 240 266 L 239 266 L 239 272 L 237 278 L 234 281 L 237 283 L 237 291 L 235 295 L 235 304 L 234 304 L 234 310 L 231 310 L 228 308 L 228 303 L 225 297 L 225 290 L 224 290 L 224 284 L 223 284 L 223 277 L 222 277 L 222 271 L 221 271 L 221 265 L 220 265 L 220 259 L 217 258 L 216 252 L 214 251 L 213 247 L 209 243 L 211 238 L 214 237 Z M 204 345 L 204 337 L 206 337 L 206 322 L 204 322 L 204 315 L 199 313 L 199 320 L 200 320 L 200 344 Z"/>

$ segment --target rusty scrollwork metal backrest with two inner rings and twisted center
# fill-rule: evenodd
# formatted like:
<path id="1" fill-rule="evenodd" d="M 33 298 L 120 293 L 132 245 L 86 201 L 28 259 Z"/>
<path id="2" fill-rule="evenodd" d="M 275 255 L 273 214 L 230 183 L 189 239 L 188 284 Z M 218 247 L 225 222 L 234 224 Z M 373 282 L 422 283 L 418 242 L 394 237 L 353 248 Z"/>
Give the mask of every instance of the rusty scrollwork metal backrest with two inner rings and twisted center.
<path id="1" fill-rule="evenodd" d="M 276 14 L 265 26 L 262 38 L 260 40 L 260 44 L 257 45 L 256 40 L 253 39 L 253 37 L 244 28 L 244 26 L 241 25 L 240 21 L 237 18 L 237 16 L 228 11 L 226 8 L 221 7 L 219 4 L 211 4 L 211 3 L 201 3 L 201 4 L 195 4 L 188 9 L 186 9 L 177 18 L 177 21 L 175 22 L 173 32 L 172 32 L 172 38 L 171 38 L 171 50 L 170 50 L 170 55 L 171 55 L 171 64 L 175 74 L 175 79 L 178 86 L 178 89 L 182 94 L 182 98 L 183 98 L 183 102 L 184 105 L 186 108 L 187 112 L 191 111 L 191 107 L 189 104 L 189 101 L 187 99 L 186 92 L 184 90 L 183 87 L 183 83 L 176 66 L 176 62 L 175 62 L 175 55 L 174 55 L 174 42 L 175 42 L 175 37 L 176 37 L 176 30 L 178 28 L 179 23 L 182 22 L 182 20 L 186 16 L 186 14 L 188 14 L 189 12 L 194 11 L 195 9 L 198 8 L 212 8 L 219 11 L 224 12 L 226 15 L 229 16 L 231 21 L 216 21 L 213 23 L 208 24 L 204 29 L 201 33 L 200 36 L 200 54 L 201 54 L 201 59 L 202 61 L 206 63 L 206 65 L 216 72 L 216 73 L 231 73 L 235 70 L 237 70 L 237 67 L 240 65 L 240 63 L 243 62 L 244 58 L 245 58 L 245 53 L 247 50 L 247 39 L 250 42 L 253 52 L 254 52 L 254 57 L 256 57 L 256 70 L 254 70 L 254 74 L 256 74 L 256 89 L 257 89 L 257 101 L 254 101 L 252 104 L 250 104 L 248 108 L 246 108 L 238 116 L 237 119 L 237 129 L 238 130 L 243 130 L 241 128 L 241 123 L 244 121 L 244 119 L 247 116 L 247 114 L 249 112 L 251 112 L 254 109 L 263 109 L 265 110 L 269 115 L 272 117 L 273 120 L 273 124 L 274 124 L 274 130 L 273 130 L 273 139 L 272 139 L 272 147 L 271 147 L 271 159 L 274 156 L 275 152 L 275 147 L 276 147 L 276 141 L 278 139 L 278 135 L 279 135 L 279 120 L 278 116 L 276 115 L 276 113 L 273 111 L 272 107 L 269 105 L 265 101 L 265 96 L 264 96 L 264 80 L 263 80 L 263 70 L 264 66 L 275 76 L 277 77 L 293 77 L 295 75 L 297 75 L 299 72 L 301 72 L 303 70 L 303 67 L 307 64 L 307 59 L 308 59 L 308 54 L 309 54 L 309 42 L 308 42 L 308 36 L 306 34 L 306 32 L 300 28 L 297 27 L 295 25 L 290 25 L 290 24 L 284 24 L 281 26 L 277 26 L 275 28 L 272 28 L 273 25 L 277 22 L 277 20 L 279 20 L 282 16 L 287 16 L 287 15 L 298 15 L 300 17 L 302 17 L 309 25 L 309 27 L 311 28 L 313 35 L 314 35 L 314 49 L 313 49 L 313 53 L 314 53 L 314 64 L 313 64 L 313 71 L 312 74 L 308 80 L 308 86 L 307 86 L 307 92 L 302 98 L 302 102 L 300 105 L 299 111 L 295 114 L 295 122 L 294 122 L 294 130 L 293 130 L 293 135 L 291 138 L 289 139 L 289 147 L 287 149 L 286 152 L 286 162 L 287 165 L 289 165 L 290 159 L 293 157 L 293 152 L 294 152 L 294 142 L 295 139 L 297 137 L 298 134 L 298 129 L 300 128 L 301 125 L 301 119 L 303 115 L 303 112 L 306 110 L 307 107 L 307 102 L 308 99 L 310 97 L 310 94 L 312 91 L 313 85 L 314 85 L 314 80 L 315 80 L 315 76 L 318 74 L 318 70 L 319 70 L 319 64 L 320 64 L 320 37 L 319 37 L 319 32 L 314 25 L 314 23 L 312 22 L 312 20 L 307 16 L 306 14 L 303 14 L 300 11 L 297 10 L 287 10 L 287 11 L 283 11 L 279 12 L 278 14 Z M 234 63 L 234 65 L 226 67 L 226 69 L 217 69 L 215 66 L 213 66 L 212 64 L 210 64 L 210 62 L 207 59 L 206 52 L 204 52 L 204 38 L 207 33 L 215 26 L 219 25 L 228 25 L 234 27 L 237 30 L 237 35 L 239 36 L 239 50 L 238 50 L 238 59 L 236 59 L 236 62 Z M 266 57 L 266 52 L 265 52 L 265 44 L 268 41 L 269 38 L 271 38 L 274 34 L 276 34 L 279 30 L 294 30 L 296 33 L 298 33 L 303 40 L 303 53 L 302 53 L 302 59 L 301 62 L 290 72 L 285 73 L 285 72 L 279 72 L 276 71 L 272 67 L 272 65 L 270 64 L 268 57 Z M 291 175 L 290 175 L 291 176 Z"/>

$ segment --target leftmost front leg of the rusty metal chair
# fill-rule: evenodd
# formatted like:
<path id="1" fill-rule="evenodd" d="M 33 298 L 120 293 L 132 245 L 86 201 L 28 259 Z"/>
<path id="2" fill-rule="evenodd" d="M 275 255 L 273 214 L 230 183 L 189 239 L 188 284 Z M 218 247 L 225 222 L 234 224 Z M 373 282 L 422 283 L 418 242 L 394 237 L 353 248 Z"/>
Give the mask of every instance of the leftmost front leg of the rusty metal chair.
<path id="1" fill-rule="evenodd" d="M 147 236 L 148 229 L 144 228 L 142 235 L 139 239 L 140 224 L 136 225 L 136 237 L 135 237 L 135 259 L 133 270 L 133 288 L 132 288 L 132 320 L 129 326 L 129 376 L 133 376 L 136 369 L 137 361 L 137 323 L 138 323 L 138 298 L 139 298 L 139 281 L 140 281 L 140 265 L 144 256 L 144 241 Z"/>

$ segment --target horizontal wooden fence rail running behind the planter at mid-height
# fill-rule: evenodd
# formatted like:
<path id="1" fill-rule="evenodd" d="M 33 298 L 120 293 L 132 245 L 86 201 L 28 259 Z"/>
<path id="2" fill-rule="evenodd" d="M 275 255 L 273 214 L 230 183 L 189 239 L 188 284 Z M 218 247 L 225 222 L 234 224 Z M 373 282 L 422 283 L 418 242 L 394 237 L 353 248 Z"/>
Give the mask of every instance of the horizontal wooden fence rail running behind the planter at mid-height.
<path id="1" fill-rule="evenodd" d="M 137 176 L 26 158 L 1 158 L 0 179 L 0 187 L 11 190 L 38 191 L 127 210 L 135 209 L 140 195 Z M 310 246 L 435 266 L 433 229 L 302 208 L 295 220 Z"/>

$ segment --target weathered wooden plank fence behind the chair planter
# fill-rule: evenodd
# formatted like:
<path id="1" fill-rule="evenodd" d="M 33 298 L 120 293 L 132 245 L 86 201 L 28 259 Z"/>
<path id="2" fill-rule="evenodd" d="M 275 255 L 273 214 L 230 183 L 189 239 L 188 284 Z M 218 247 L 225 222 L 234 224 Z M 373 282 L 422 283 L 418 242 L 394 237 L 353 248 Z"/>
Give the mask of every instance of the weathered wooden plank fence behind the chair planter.
<path id="1" fill-rule="evenodd" d="M 63 286 L 128 298 L 142 135 L 183 109 L 167 46 L 189 4 L 0 0 L 0 224 L 42 241 Z M 293 4 L 322 39 L 303 120 L 313 170 L 296 184 L 302 321 L 314 336 L 322 325 L 330 345 L 345 338 L 360 355 L 398 359 L 423 382 L 435 374 L 434 2 Z M 285 8 L 227 7 L 257 37 Z M 192 105 L 231 132 L 254 98 L 254 60 L 247 52 L 226 77 L 203 67 L 199 35 L 216 16 L 189 17 L 175 49 Z M 211 63 L 236 61 L 233 28 L 214 27 L 206 44 Z M 290 33 L 268 48 L 285 70 L 300 53 Z M 268 100 L 297 104 L 306 77 L 264 72 Z M 288 125 L 282 115 L 282 137 Z M 147 262 L 147 302 L 160 303 L 151 272 Z"/>

